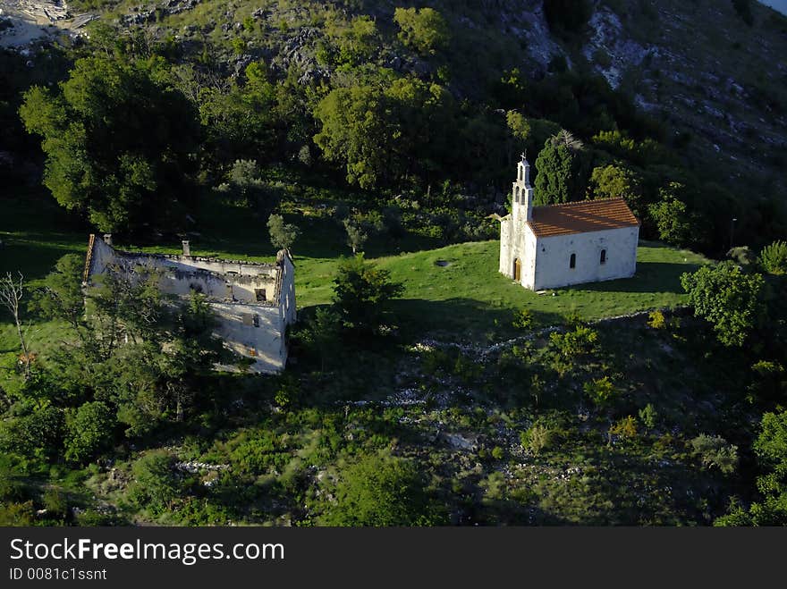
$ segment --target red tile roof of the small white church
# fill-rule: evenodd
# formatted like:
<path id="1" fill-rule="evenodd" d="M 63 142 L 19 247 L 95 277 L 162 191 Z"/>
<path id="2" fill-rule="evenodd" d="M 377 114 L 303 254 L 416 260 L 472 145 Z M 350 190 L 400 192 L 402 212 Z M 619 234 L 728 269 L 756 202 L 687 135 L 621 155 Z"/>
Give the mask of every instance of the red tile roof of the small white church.
<path id="1" fill-rule="evenodd" d="M 635 227 L 637 217 L 622 198 L 581 200 L 563 205 L 535 206 L 528 222 L 536 237 Z"/>

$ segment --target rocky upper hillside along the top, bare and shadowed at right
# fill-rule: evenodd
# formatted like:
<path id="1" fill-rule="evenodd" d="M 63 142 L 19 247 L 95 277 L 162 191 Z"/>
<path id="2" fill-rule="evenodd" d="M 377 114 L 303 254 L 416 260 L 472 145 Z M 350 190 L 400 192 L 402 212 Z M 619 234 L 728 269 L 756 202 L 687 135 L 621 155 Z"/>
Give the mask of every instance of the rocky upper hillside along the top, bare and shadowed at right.
<path id="1" fill-rule="evenodd" d="M 543 0 L 431 0 L 419 5 L 440 10 L 453 38 L 449 55 L 435 59 L 402 55 L 386 43 L 395 36 L 393 10 L 400 4 L 408 3 L 74 0 L 69 13 L 147 29 L 195 54 L 209 41 L 223 48 L 230 71 L 259 57 L 279 71 L 295 65 L 303 81 L 337 74 L 318 55 L 326 13 L 368 14 L 385 33 L 381 64 L 426 76 L 447 61 L 458 97 L 472 97 L 512 68 L 535 78 L 549 75 L 555 63 L 589 69 L 666 122 L 688 146 L 690 166 L 710 168 L 734 189 L 785 190 L 787 18 L 762 4 L 751 4 L 749 24 L 726 0 L 593 0 L 587 24 L 558 36 Z"/>

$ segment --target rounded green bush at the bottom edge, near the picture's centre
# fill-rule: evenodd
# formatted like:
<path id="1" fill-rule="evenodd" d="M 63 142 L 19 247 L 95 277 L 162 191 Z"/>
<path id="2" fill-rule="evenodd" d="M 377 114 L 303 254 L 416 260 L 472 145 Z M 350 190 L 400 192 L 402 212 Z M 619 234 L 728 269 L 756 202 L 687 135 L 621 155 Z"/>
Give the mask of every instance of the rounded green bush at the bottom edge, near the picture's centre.
<path id="1" fill-rule="evenodd" d="M 430 526 L 440 523 L 410 460 L 367 455 L 343 467 L 335 505 L 321 518 L 327 526 Z"/>

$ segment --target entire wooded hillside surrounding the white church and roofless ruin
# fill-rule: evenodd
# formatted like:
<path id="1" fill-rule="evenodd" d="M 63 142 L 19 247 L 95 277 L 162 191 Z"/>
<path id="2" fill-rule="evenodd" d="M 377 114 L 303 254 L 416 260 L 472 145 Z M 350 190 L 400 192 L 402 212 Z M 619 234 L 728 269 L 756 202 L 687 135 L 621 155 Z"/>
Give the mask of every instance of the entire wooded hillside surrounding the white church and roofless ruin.
<path id="1" fill-rule="evenodd" d="M 787 524 L 782 16 L 7 4 L 0 526 Z M 636 274 L 498 273 L 523 194 L 615 199 Z M 583 215 L 546 245 L 569 274 Z M 86 283 L 89 234 L 207 274 Z M 201 259 L 283 249 L 286 326 L 283 271 Z"/>

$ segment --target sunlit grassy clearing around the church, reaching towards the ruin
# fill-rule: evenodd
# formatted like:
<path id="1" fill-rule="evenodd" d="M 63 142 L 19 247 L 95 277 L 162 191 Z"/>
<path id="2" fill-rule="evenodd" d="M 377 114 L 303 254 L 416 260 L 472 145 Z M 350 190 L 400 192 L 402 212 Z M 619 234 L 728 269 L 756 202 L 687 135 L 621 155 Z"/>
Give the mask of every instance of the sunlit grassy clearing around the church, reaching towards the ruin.
<path id="1" fill-rule="evenodd" d="M 532 310 L 539 324 L 554 324 L 569 313 L 598 319 L 677 307 L 685 298 L 681 273 L 708 263 L 690 251 L 643 241 L 634 278 L 539 295 L 497 272 L 498 249 L 497 241 L 462 243 L 374 261 L 405 285 L 396 310 L 407 331 L 417 326 L 417 332 L 445 332 L 475 340 L 490 332 L 505 335 L 511 329 L 513 312 L 521 308 Z M 329 302 L 333 276 L 333 260 L 300 260 L 296 279 L 299 306 Z"/>

